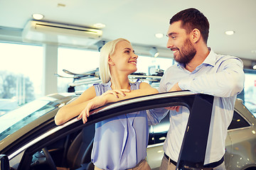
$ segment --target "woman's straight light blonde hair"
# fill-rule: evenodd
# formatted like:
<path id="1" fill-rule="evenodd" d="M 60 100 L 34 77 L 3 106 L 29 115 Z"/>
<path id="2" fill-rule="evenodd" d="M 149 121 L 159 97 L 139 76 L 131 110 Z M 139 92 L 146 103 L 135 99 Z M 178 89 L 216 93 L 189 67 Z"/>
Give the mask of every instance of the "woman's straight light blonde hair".
<path id="1" fill-rule="evenodd" d="M 118 38 L 116 40 L 107 42 L 105 45 L 103 45 L 102 49 L 100 50 L 100 68 L 99 69 L 100 69 L 100 79 L 102 80 L 103 84 L 107 83 L 111 79 L 110 65 L 108 64 L 108 59 L 111 55 L 114 54 L 117 43 L 120 41 L 129 42 L 129 40 L 126 40 L 124 38 Z"/>

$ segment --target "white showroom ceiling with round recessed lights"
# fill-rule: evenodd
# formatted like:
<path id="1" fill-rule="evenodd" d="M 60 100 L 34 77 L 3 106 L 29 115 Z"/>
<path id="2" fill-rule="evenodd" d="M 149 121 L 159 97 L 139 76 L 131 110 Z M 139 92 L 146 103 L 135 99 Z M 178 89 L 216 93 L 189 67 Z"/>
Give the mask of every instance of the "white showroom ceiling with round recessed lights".
<path id="1" fill-rule="evenodd" d="M 256 61 L 255 0 L 2 0 L 0 28 L 23 29 L 33 13 L 41 13 L 43 21 L 87 27 L 104 23 L 102 38 L 105 40 L 127 38 L 133 44 L 164 49 L 169 19 L 178 11 L 191 7 L 208 17 L 208 46 L 215 52 Z M 225 35 L 227 30 L 235 34 Z M 156 33 L 164 37 L 156 38 Z"/>

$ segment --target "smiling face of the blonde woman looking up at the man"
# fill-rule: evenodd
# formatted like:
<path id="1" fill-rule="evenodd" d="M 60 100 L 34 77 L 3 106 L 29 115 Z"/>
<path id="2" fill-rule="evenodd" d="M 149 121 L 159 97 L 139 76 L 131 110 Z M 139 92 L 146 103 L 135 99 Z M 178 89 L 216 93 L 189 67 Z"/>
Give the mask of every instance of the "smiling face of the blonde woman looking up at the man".
<path id="1" fill-rule="evenodd" d="M 122 40 L 117 43 L 114 54 L 109 58 L 109 64 L 117 71 L 131 74 L 137 71 L 137 58 L 138 55 L 134 54 L 132 45 Z"/>

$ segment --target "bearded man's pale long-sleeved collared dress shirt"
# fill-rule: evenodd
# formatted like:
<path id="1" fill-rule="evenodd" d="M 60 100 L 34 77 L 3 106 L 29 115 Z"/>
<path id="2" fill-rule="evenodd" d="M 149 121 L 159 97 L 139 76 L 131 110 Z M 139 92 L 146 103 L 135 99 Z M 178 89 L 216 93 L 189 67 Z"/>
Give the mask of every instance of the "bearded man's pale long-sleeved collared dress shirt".
<path id="1" fill-rule="evenodd" d="M 161 79 L 159 92 L 169 91 L 178 83 L 182 90 L 215 96 L 205 164 L 219 161 L 225 154 L 227 129 L 233 118 L 235 98 L 243 89 L 244 79 L 243 64 L 238 57 L 217 55 L 213 50 L 193 72 L 188 72 L 182 64 L 174 64 Z M 164 152 L 175 162 L 178 160 L 188 115 L 188 108 L 184 106 L 178 112 L 170 111 L 170 128 L 164 142 Z"/>

